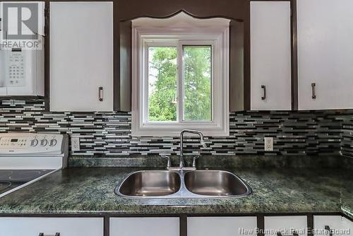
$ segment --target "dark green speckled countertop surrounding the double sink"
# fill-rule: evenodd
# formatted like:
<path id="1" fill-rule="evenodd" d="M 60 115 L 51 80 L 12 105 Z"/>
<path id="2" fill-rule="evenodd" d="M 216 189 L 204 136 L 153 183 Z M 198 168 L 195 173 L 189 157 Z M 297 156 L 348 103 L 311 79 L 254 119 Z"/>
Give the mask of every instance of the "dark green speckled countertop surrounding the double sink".
<path id="1" fill-rule="evenodd" d="M 59 170 L 1 198 L 0 214 L 340 213 L 341 191 L 347 199 L 347 208 L 352 209 L 353 178 L 349 170 L 232 168 L 229 171 L 239 175 L 253 189 L 251 196 L 242 199 L 125 199 L 116 196 L 116 185 L 136 170 L 141 168 Z"/>

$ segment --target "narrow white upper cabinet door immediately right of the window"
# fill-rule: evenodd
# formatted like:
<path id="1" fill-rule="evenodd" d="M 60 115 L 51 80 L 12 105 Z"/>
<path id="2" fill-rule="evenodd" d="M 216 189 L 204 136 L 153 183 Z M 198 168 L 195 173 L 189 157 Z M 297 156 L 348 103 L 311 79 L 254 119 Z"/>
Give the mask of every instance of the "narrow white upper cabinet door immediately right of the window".
<path id="1" fill-rule="evenodd" d="M 291 110 L 289 1 L 251 2 L 251 110 Z"/>

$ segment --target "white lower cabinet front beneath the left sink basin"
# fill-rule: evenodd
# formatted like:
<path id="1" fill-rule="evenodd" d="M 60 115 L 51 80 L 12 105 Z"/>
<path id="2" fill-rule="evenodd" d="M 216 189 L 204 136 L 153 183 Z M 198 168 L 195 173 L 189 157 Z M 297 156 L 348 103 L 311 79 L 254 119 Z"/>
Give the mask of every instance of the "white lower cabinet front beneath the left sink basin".
<path id="1" fill-rule="evenodd" d="M 179 218 L 110 218 L 110 236 L 179 236 Z"/>

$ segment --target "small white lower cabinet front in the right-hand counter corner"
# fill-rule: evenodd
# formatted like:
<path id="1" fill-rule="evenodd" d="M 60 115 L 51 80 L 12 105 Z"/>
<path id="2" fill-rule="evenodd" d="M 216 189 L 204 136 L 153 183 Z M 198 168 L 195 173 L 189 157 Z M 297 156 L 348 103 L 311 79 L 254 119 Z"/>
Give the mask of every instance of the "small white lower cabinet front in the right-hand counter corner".
<path id="1" fill-rule="evenodd" d="M 313 235 L 336 235 L 335 230 L 342 228 L 342 216 L 313 216 Z"/>

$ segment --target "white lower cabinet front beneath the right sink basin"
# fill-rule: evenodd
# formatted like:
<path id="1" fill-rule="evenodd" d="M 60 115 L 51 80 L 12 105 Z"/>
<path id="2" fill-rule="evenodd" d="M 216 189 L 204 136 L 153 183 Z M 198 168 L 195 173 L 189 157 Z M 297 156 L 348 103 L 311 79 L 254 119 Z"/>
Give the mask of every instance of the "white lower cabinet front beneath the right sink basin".
<path id="1" fill-rule="evenodd" d="M 188 236 L 256 236 L 256 217 L 189 217 Z"/>

